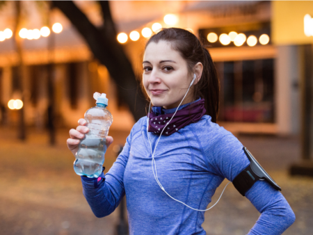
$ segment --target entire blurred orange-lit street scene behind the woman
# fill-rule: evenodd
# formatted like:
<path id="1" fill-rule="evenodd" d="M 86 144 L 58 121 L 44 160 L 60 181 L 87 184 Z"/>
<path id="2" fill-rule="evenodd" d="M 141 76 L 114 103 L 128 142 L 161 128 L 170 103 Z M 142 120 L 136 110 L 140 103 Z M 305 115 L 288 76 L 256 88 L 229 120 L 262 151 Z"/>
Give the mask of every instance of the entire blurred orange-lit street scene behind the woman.
<path id="1" fill-rule="evenodd" d="M 1 0 L 0 234 L 125 234 L 120 209 L 91 212 L 66 139 L 106 93 L 109 170 L 145 115 L 145 42 L 166 27 L 209 45 L 218 124 L 282 187 L 296 213 L 284 234 L 312 233 L 312 17 L 312 0 Z M 247 234 L 259 212 L 231 184 L 205 216 L 207 234 Z"/>

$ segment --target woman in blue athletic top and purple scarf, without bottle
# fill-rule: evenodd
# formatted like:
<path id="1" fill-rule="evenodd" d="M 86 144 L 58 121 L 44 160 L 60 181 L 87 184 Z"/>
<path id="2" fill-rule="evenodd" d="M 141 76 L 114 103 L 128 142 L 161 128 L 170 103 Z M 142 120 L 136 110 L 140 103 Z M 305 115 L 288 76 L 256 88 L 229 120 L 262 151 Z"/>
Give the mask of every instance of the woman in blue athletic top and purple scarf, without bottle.
<path id="1" fill-rule="evenodd" d="M 81 177 L 83 195 L 97 217 L 126 195 L 129 234 L 206 234 L 204 210 L 216 188 L 250 163 L 239 140 L 216 124 L 219 83 L 211 56 L 189 31 L 163 29 L 145 46 L 142 87 L 152 110 L 134 124 L 105 176 Z M 70 130 L 74 155 L 85 124 L 81 119 Z M 107 146 L 112 142 L 109 136 Z M 246 197 L 262 213 L 249 234 L 282 234 L 295 220 L 267 181 L 257 181 Z"/>

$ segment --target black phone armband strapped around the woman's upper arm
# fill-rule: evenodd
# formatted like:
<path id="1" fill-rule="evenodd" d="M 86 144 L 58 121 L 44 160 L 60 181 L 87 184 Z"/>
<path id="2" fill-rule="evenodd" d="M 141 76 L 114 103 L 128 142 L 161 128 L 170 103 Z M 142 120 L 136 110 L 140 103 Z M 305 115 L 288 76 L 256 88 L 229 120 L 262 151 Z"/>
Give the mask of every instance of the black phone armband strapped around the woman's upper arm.
<path id="1" fill-rule="evenodd" d="M 261 165 L 257 162 L 257 160 L 252 156 L 252 154 L 248 151 L 246 147 L 243 147 L 243 151 L 248 156 L 250 161 L 250 165 L 246 169 L 237 175 L 232 184 L 236 188 L 241 195 L 245 195 L 246 191 L 248 191 L 253 184 L 255 184 L 258 180 L 266 180 L 271 184 L 276 190 L 281 191 L 282 188 L 276 184 L 276 182 L 268 175 L 268 173 L 262 168 Z"/>

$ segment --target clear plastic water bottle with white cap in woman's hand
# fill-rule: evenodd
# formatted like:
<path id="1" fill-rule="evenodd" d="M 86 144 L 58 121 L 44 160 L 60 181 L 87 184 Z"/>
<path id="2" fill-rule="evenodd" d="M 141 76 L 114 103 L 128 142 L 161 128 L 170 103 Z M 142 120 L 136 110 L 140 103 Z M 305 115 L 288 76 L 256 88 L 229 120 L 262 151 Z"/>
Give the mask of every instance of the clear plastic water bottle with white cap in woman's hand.
<path id="1" fill-rule="evenodd" d="M 86 175 L 89 178 L 99 177 L 102 173 L 104 154 L 106 152 L 106 136 L 113 122 L 111 113 L 106 109 L 108 99 L 106 94 L 95 92 L 97 106 L 89 108 L 85 113 L 86 133 L 79 143 L 79 150 L 74 161 L 74 171 L 77 175 Z"/>

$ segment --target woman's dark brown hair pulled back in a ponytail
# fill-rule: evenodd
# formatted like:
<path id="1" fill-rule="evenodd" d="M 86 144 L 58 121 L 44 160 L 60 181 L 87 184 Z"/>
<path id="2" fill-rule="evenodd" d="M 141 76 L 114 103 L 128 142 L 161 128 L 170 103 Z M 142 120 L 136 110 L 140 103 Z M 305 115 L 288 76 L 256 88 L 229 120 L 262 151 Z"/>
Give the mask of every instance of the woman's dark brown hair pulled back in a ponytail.
<path id="1" fill-rule="evenodd" d="M 206 114 L 211 116 L 212 122 L 216 122 L 220 84 L 209 51 L 193 33 L 179 28 L 161 29 L 147 41 L 145 49 L 150 42 L 157 43 L 160 40 L 171 42 L 172 49 L 178 51 L 182 58 L 186 60 L 190 74 L 193 74 L 193 66 L 196 63 L 202 63 L 201 79 L 193 86 L 193 100 L 198 99 L 198 97 L 204 98 Z M 142 81 L 141 88 L 144 90 Z"/>

